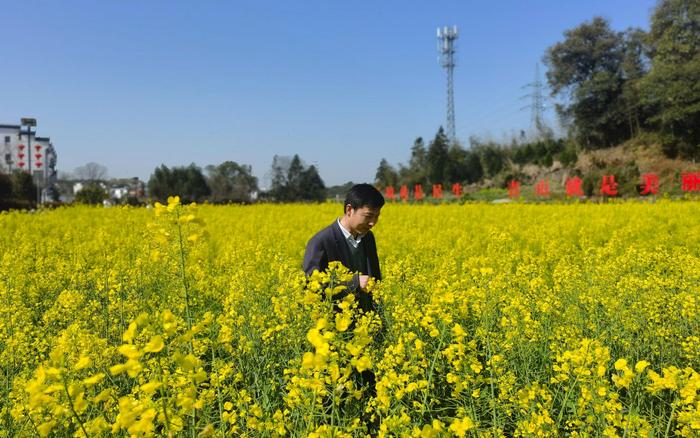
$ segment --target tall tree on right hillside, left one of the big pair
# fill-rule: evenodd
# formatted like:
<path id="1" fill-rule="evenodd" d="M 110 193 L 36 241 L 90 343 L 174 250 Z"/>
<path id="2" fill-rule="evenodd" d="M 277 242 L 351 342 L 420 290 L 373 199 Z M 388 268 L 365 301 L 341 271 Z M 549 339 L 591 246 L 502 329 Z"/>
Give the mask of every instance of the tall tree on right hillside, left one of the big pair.
<path id="1" fill-rule="evenodd" d="M 547 49 L 544 62 L 552 95 L 563 121 L 571 121 L 575 138 L 586 148 L 608 147 L 630 137 L 623 94 L 624 34 L 595 17 L 564 33 L 564 41 Z"/>

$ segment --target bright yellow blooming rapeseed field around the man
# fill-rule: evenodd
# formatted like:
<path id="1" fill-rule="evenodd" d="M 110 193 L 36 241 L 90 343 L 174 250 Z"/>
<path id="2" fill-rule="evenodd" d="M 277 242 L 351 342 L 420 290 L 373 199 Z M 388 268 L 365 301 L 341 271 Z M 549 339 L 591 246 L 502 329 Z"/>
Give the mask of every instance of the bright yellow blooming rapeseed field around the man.
<path id="1" fill-rule="evenodd" d="M 0 436 L 700 435 L 700 203 L 388 204 L 378 314 L 341 212 L 0 214 Z"/>

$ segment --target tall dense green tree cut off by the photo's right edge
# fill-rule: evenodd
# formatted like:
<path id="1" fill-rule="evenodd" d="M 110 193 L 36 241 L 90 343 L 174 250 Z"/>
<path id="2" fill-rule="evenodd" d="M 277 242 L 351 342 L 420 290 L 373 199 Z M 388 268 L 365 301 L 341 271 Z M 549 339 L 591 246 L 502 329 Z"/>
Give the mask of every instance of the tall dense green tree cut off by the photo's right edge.
<path id="1" fill-rule="evenodd" d="M 662 0 L 651 18 L 644 100 L 670 156 L 700 156 L 700 3 Z"/>

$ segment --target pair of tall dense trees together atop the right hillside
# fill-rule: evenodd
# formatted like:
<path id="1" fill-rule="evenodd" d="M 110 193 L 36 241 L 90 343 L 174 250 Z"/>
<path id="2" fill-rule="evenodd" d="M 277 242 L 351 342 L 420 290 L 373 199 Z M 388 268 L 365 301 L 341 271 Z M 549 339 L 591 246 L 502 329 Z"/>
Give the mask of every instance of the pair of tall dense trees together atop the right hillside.
<path id="1" fill-rule="evenodd" d="M 547 82 L 581 148 L 654 132 L 668 156 L 700 156 L 700 2 L 660 1 L 648 32 L 595 17 L 564 37 L 544 55 Z"/>

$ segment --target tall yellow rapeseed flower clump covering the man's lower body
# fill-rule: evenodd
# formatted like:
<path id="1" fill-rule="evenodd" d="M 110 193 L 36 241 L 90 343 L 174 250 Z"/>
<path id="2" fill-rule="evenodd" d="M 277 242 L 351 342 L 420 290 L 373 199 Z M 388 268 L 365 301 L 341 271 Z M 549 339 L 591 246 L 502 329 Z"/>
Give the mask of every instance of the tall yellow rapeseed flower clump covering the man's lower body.
<path id="1" fill-rule="evenodd" d="M 304 428 L 316 434 L 342 434 L 332 427 L 337 417 L 350 415 L 357 420 L 362 415 L 362 405 L 356 402 L 368 388 L 361 385 L 359 376 L 373 368 L 371 344 L 381 326 L 378 315 L 358 310 L 352 294 L 332 299 L 347 288 L 352 276 L 338 262 L 331 262 L 327 272 L 311 275 L 304 303 L 315 321 L 306 332 L 313 351 L 302 355 L 299 366 L 284 370 L 287 406 L 303 412 L 308 420 Z M 354 421 L 346 432 L 356 432 L 359 427 L 359 421 Z"/>

